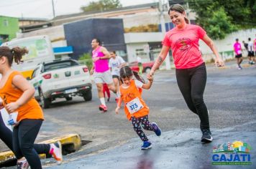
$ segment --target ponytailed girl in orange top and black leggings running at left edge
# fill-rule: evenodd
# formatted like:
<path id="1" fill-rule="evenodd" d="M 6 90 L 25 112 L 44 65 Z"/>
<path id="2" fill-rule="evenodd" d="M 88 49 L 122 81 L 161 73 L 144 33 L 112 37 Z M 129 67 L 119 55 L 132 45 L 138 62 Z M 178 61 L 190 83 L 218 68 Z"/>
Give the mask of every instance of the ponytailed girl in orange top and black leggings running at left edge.
<path id="1" fill-rule="evenodd" d="M 6 135 L 1 135 L 1 140 L 8 145 L 18 159 L 18 168 L 42 168 L 40 158 L 37 153 L 50 153 L 60 163 L 62 161 L 61 144 L 37 144 L 34 145 L 35 138 L 44 120 L 43 112 L 35 100 L 35 89 L 27 82 L 22 74 L 11 69 L 12 62 L 19 62 L 22 55 L 27 53 L 26 49 L 14 47 L 0 47 L 0 97 L 9 115 L 17 113 L 17 117 L 9 119 L 9 124 L 13 125 L 13 132 L 4 127 L 1 131 Z M 3 122 L 1 122 L 2 124 Z M 12 133 L 12 137 L 10 134 Z M 12 142 L 12 143 L 9 143 Z M 27 160 L 26 160 L 26 159 Z"/>

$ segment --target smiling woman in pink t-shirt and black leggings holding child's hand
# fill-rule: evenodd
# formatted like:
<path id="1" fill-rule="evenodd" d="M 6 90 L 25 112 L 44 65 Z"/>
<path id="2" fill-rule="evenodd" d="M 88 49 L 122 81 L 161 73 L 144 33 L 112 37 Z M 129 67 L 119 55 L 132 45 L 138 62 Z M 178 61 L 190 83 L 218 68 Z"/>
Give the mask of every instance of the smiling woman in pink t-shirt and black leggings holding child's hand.
<path id="1" fill-rule="evenodd" d="M 206 86 L 206 66 L 198 49 L 199 39 L 202 39 L 214 52 L 216 66 L 224 66 L 224 62 L 204 29 L 197 25 L 188 24 L 183 6 L 180 4 L 170 6 L 168 14 L 175 24 L 175 28 L 165 34 L 162 50 L 150 71 L 150 76 L 163 63 L 169 49 L 171 49 L 180 92 L 188 108 L 201 120 L 200 128 L 203 133 L 201 142 L 210 143 L 213 137 L 209 126 L 209 112 L 203 97 Z"/>

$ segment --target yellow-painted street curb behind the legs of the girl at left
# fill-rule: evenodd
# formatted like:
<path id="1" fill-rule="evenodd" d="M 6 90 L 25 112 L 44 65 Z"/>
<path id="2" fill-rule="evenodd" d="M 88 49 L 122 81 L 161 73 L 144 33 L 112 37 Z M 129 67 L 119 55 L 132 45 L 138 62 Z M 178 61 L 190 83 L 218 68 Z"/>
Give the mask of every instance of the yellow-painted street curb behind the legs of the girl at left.
<path id="1" fill-rule="evenodd" d="M 60 141 L 62 147 L 63 147 L 63 153 L 73 153 L 79 148 L 81 148 L 81 137 L 78 134 L 69 134 L 69 135 L 62 135 L 59 137 L 54 137 L 50 140 L 45 140 L 40 143 L 49 144 L 49 143 L 55 143 L 57 141 Z M 45 154 L 41 154 L 40 158 L 46 158 Z M 12 153 L 11 150 L 1 152 L 0 153 L 0 165 L 9 162 L 11 160 L 16 160 L 14 153 Z"/>

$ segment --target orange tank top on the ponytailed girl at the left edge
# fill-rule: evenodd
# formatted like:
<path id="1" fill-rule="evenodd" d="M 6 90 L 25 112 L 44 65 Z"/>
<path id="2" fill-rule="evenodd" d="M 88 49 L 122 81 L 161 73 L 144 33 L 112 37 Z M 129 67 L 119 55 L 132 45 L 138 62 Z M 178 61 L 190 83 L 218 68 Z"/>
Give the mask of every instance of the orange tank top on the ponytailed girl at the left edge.
<path id="1" fill-rule="evenodd" d="M 4 87 L 2 87 L 0 89 L 1 99 L 4 100 L 4 98 L 5 98 L 7 103 L 16 102 L 19 99 L 19 97 L 21 97 L 23 94 L 22 90 L 19 90 L 12 86 L 12 79 L 14 78 L 14 76 L 16 76 L 18 74 L 20 74 L 20 73 L 17 71 L 12 72 L 9 75 L 6 83 L 4 84 Z M 22 75 L 22 74 L 20 74 L 20 75 Z M 17 121 L 21 121 L 24 119 L 44 120 L 44 115 L 43 115 L 42 109 L 34 97 L 31 100 L 29 100 L 27 103 L 25 103 L 24 105 L 19 107 L 17 109 L 17 112 L 18 112 Z"/>

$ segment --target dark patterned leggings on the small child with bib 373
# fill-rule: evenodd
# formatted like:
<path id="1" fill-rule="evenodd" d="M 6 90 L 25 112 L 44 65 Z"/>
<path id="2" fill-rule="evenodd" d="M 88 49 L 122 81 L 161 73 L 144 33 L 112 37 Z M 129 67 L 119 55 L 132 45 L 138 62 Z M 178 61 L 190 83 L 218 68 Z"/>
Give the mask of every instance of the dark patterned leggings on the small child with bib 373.
<path id="1" fill-rule="evenodd" d="M 137 135 L 140 136 L 140 139 L 142 141 L 148 141 L 147 136 L 145 135 L 145 133 L 142 130 L 142 127 L 140 126 L 140 124 L 142 125 L 142 127 L 145 130 L 150 130 L 150 131 L 154 131 L 154 127 L 152 127 L 152 125 L 150 124 L 150 121 L 148 120 L 148 116 L 145 115 L 143 117 L 132 117 L 132 125 L 134 128 L 134 131 L 137 132 Z"/>

